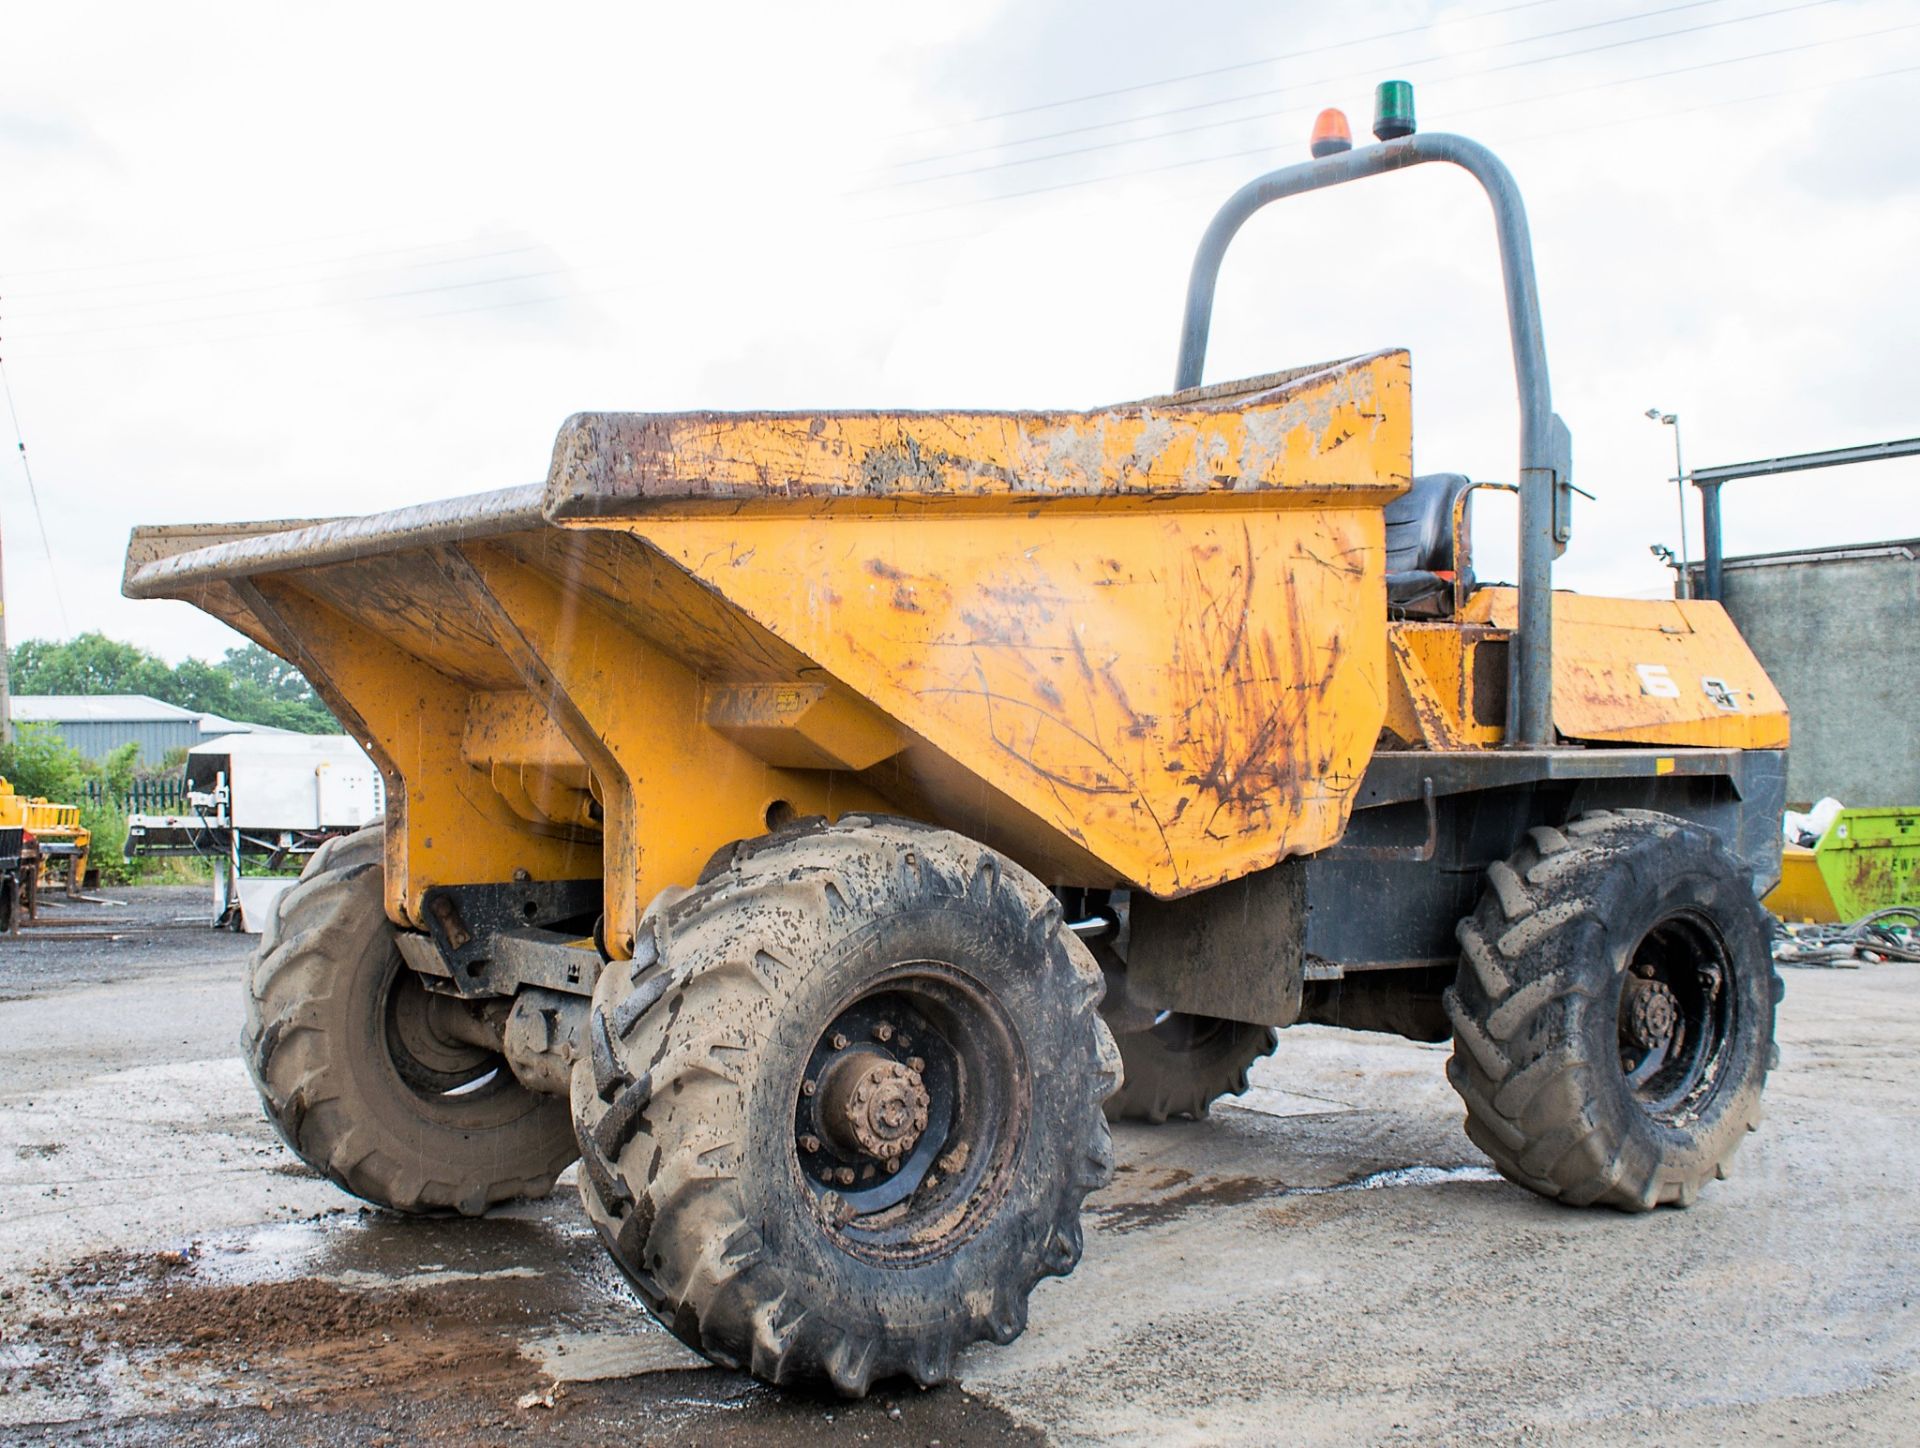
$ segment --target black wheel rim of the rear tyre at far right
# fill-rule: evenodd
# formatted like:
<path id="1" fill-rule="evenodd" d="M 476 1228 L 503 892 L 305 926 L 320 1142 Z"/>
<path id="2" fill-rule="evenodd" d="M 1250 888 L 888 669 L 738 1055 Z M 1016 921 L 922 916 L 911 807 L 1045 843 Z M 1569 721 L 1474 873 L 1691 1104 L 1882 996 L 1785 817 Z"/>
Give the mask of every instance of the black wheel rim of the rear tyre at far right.
<path id="1" fill-rule="evenodd" d="M 1726 941 L 1701 914 L 1667 916 L 1634 947 L 1617 999 L 1620 1074 L 1640 1108 L 1667 1125 L 1697 1114 L 1732 1027 Z"/>

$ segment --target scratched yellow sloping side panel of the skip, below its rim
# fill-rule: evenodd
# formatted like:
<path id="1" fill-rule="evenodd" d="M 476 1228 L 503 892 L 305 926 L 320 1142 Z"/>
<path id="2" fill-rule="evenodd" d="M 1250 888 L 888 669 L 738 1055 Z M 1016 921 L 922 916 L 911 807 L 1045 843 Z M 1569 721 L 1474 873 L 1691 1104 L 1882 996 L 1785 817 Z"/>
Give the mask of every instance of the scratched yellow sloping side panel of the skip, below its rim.
<path id="1" fill-rule="evenodd" d="M 1338 839 L 1380 730 L 1377 507 L 630 526 L 1156 895 Z"/>

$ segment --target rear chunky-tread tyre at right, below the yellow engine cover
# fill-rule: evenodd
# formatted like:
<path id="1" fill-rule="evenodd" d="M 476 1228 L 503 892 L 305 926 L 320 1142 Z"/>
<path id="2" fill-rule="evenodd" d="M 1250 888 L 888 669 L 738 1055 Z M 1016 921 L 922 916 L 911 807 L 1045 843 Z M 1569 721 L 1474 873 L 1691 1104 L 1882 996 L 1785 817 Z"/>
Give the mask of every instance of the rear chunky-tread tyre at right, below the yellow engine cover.
<path id="1" fill-rule="evenodd" d="M 1651 810 L 1488 870 L 1446 993 L 1467 1135 L 1542 1196 L 1690 1206 L 1761 1122 L 1782 983 L 1747 872 Z"/>

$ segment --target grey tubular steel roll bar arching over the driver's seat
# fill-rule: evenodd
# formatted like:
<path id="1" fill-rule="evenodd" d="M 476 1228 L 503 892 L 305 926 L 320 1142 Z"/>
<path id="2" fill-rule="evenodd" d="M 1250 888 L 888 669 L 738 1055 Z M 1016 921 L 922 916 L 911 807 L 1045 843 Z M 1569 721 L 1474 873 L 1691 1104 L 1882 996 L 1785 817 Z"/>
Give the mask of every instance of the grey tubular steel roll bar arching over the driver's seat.
<path id="1" fill-rule="evenodd" d="M 1540 290 L 1534 284 L 1526 205 L 1521 202 L 1513 173 L 1498 156 L 1465 136 L 1428 133 L 1281 167 L 1240 186 L 1200 238 L 1192 278 L 1187 284 L 1187 317 L 1181 325 L 1181 361 L 1173 388 L 1185 392 L 1200 386 L 1219 263 L 1248 217 L 1288 196 L 1427 161 L 1450 161 L 1461 167 L 1480 182 L 1494 205 L 1500 271 L 1507 290 L 1507 330 L 1513 338 L 1513 380 L 1521 399 L 1521 618 L 1513 634 L 1507 682 L 1507 743 L 1538 747 L 1553 741 L 1553 557 L 1565 549 L 1572 532 L 1572 442 L 1567 424 L 1553 415 L 1548 386 L 1548 351 L 1540 332 Z"/>

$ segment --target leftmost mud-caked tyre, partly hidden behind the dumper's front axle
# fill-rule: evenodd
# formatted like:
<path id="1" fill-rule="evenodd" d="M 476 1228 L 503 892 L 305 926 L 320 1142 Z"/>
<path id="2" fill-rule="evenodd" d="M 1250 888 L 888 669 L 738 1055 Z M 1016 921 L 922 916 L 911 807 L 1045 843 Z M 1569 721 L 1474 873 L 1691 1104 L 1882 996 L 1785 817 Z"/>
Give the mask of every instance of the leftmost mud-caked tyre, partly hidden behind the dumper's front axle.
<path id="1" fill-rule="evenodd" d="M 301 1162 L 396 1212 L 543 1196 L 574 1160 L 566 1102 L 432 1029 L 386 918 L 380 828 L 330 839 L 275 905 L 240 1052 Z"/>

